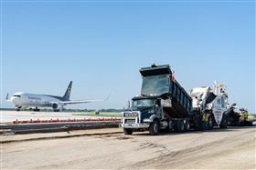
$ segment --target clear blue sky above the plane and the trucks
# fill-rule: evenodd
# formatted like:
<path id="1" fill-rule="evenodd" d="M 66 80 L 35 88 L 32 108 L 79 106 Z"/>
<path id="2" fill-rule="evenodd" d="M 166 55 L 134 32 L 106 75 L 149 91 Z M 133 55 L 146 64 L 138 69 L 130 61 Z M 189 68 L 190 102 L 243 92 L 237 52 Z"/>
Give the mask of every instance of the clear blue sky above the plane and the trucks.
<path id="1" fill-rule="evenodd" d="M 169 64 L 188 91 L 228 86 L 230 103 L 255 112 L 253 1 L 3 1 L 2 93 L 25 91 L 107 102 L 138 95 L 142 66 Z"/>

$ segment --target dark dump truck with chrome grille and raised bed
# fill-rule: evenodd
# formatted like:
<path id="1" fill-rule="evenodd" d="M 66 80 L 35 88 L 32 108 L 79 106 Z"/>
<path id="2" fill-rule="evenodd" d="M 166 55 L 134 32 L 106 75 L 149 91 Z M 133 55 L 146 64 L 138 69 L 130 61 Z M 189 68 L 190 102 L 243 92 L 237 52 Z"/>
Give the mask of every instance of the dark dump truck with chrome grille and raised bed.
<path id="1" fill-rule="evenodd" d="M 160 129 L 186 132 L 197 128 L 200 115 L 192 111 L 192 98 L 176 81 L 169 65 L 140 69 L 143 77 L 141 95 L 132 99 L 132 107 L 123 112 L 121 126 L 125 135 L 148 130 L 157 135 Z"/>

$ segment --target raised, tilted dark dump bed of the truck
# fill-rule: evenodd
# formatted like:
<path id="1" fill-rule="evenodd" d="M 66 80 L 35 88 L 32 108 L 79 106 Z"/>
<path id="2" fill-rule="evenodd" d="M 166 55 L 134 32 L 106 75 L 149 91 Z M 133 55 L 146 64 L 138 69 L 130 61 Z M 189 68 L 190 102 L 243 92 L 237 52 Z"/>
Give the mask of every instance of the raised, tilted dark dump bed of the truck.
<path id="1" fill-rule="evenodd" d="M 172 107 L 168 113 L 172 117 L 186 117 L 192 115 L 192 98 L 187 91 L 172 76 L 169 65 L 152 65 L 140 70 L 143 76 L 141 95 L 157 95 L 164 100 L 171 99 Z"/>

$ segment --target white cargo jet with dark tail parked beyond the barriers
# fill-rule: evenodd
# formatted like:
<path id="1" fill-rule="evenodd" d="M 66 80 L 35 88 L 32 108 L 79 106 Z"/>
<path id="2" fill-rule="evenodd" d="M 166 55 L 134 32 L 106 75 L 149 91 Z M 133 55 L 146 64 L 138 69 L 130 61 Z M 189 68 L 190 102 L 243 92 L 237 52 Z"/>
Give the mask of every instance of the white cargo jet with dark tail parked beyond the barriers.
<path id="1" fill-rule="evenodd" d="M 102 100 L 69 100 L 71 93 L 72 81 L 70 81 L 69 86 L 66 90 L 65 95 L 55 96 L 55 95 L 37 95 L 28 94 L 24 92 L 17 92 L 8 99 L 8 94 L 6 95 L 6 101 L 12 102 L 16 105 L 16 110 L 19 111 L 22 107 L 33 108 L 34 111 L 39 111 L 39 107 L 51 107 L 53 111 L 58 112 L 64 108 L 64 105 L 70 104 L 82 104 L 90 103 Z M 108 98 L 108 97 L 107 97 Z M 107 99 L 106 98 L 106 99 Z"/>

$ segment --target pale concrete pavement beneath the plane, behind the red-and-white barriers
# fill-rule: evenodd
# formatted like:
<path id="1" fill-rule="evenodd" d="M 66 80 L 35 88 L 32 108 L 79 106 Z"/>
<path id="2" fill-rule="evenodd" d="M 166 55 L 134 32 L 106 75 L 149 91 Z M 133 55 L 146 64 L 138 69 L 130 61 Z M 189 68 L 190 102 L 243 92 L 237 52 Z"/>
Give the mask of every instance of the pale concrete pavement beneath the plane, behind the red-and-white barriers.
<path id="1" fill-rule="evenodd" d="M 49 120 L 49 119 L 83 119 L 88 118 L 91 116 L 80 116 L 80 115 L 73 115 L 73 114 L 80 114 L 74 112 L 33 112 L 33 111 L 0 111 L 1 118 L 0 123 L 12 123 L 16 120 Z M 93 116 L 95 118 L 95 116 Z"/>

